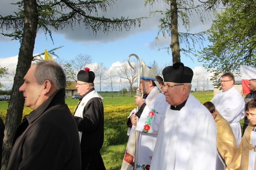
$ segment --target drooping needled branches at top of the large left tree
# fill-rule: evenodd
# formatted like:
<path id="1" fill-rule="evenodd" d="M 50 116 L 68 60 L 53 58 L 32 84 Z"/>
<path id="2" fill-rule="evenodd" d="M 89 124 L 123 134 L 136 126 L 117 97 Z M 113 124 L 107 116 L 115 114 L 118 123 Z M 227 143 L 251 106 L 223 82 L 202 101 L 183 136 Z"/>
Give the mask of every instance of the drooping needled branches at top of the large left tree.
<path id="1" fill-rule="evenodd" d="M 2 16 L 1 30 L 14 30 L 11 33 L 4 33 L 2 35 L 13 37 L 13 39 L 22 39 L 23 26 L 25 19 L 24 8 L 25 0 L 21 0 L 17 3 L 11 3 L 18 5 L 18 12 L 14 12 L 15 15 Z M 67 27 L 75 27 L 76 24 L 83 24 L 85 29 L 93 31 L 95 35 L 97 31 L 103 31 L 108 33 L 109 31 L 122 31 L 123 28 L 128 31 L 131 27 L 136 27 L 137 23 L 140 26 L 140 20 L 129 19 L 128 17 L 121 18 L 106 18 L 98 16 L 98 12 L 106 14 L 109 8 L 113 8 L 115 0 L 100 0 L 100 1 L 75 1 L 75 0 L 28 0 L 28 2 L 35 2 L 37 6 L 37 19 L 38 28 L 42 29 L 45 34 L 49 34 L 52 38 L 52 28 L 58 31 Z"/>

